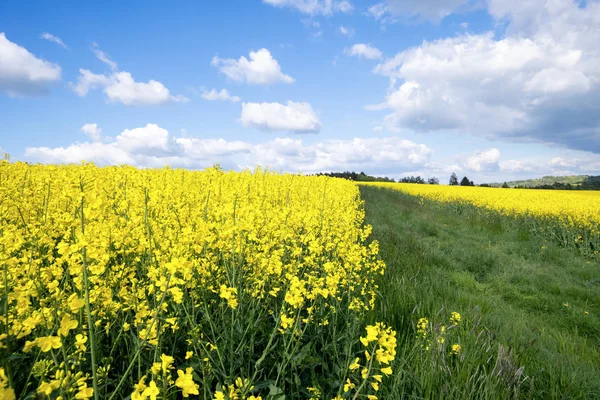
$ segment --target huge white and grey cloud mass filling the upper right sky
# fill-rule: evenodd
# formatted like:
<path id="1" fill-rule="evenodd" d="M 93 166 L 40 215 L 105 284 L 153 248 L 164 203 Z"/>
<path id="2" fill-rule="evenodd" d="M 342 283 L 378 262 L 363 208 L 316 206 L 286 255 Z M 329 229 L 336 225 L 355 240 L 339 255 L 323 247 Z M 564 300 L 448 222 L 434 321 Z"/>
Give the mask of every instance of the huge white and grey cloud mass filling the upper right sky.
<path id="1" fill-rule="evenodd" d="M 510 6 L 506 5 L 510 3 Z M 424 42 L 375 68 L 390 129 L 446 130 L 600 152 L 600 3 L 490 1 L 507 35 Z"/>

